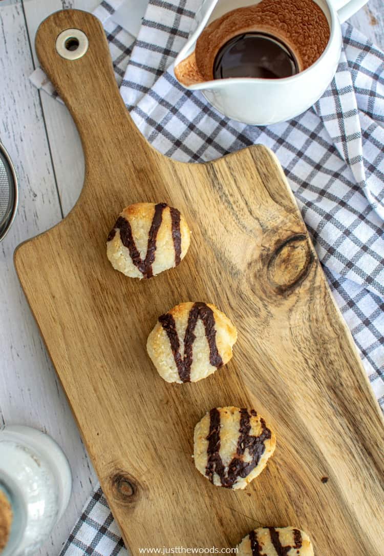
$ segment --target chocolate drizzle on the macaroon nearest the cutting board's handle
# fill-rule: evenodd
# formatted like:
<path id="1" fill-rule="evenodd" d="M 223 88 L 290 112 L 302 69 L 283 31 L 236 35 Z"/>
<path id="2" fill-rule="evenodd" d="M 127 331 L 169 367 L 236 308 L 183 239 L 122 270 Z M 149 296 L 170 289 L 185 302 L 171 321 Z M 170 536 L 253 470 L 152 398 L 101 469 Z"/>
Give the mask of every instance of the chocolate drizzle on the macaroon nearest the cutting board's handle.
<path id="1" fill-rule="evenodd" d="M 153 276 L 152 265 L 156 254 L 156 239 L 161 222 L 163 221 L 163 211 L 166 207 L 168 207 L 166 203 L 158 203 L 155 205 L 155 213 L 149 229 L 148 244 L 146 247 L 144 261 L 142 260 L 142 257 L 140 257 L 140 253 L 136 247 L 129 221 L 123 216 L 118 217 L 116 224 L 108 235 L 107 241 L 112 241 L 116 235 L 116 230 L 120 230 L 120 239 L 122 240 L 122 244 L 129 250 L 129 255 L 133 264 L 137 267 L 137 269 L 139 269 L 144 278 L 151 278 Z M 170 207 L 169 210 L 171 214 L 172 239 L 175 248 L 175 265 L 178 265 L 181 255 L 180 212 L 173 207 Z"/>

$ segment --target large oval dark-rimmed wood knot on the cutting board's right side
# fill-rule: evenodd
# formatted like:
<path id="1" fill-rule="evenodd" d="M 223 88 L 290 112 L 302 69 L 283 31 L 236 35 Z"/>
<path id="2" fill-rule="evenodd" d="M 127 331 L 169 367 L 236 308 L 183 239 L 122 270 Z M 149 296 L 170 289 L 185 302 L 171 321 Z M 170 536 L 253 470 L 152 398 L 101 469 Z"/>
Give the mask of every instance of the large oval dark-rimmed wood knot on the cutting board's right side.
<path id="1" fill-rule="evenodd" d="M 277 294 L 291 292 L 309 274 L 315 260 L 305 234 L 295 234 L 282 242 L 272 254 L 267 277 Z"/>

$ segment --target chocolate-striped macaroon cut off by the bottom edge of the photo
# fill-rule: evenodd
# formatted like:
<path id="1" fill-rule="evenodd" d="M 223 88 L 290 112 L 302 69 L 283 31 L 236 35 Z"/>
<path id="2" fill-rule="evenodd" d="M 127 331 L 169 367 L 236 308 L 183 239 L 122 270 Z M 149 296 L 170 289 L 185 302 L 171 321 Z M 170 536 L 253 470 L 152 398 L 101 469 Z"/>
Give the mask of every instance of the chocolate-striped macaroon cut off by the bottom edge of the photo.
<path id="1" fill-rule="evenodd" d="M 255 529 L 242 539 L 239 556 L 314 556 L 309 536 L 295 527 L 264 527 Z"/>

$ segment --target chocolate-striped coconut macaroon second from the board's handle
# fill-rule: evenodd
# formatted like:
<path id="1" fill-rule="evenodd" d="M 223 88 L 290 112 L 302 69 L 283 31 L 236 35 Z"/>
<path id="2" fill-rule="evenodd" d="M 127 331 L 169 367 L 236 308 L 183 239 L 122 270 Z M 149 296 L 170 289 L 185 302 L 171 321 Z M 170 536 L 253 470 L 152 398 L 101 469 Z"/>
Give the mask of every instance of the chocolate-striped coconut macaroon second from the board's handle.
<path id="1" fill-rule="evenodd" d="M 228 363 L 237 337 L 236 327 L 214 305 L 189 301 L 159 317 L 146 349 L 166 382 L 197 382 Z"/>

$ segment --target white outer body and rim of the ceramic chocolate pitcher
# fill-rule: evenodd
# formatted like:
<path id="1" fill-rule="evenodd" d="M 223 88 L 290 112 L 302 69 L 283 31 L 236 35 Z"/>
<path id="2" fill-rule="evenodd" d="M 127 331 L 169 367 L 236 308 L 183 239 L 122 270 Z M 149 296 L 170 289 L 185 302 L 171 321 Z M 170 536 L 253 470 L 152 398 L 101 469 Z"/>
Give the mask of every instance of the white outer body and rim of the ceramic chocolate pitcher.
<path id="1" fill-rule="evenodd" d="M 261 0 L 259 0 L 260 2 Z M 259 3 L 257 0 L 204 0 L 196 13 L 188 42 L 175 60 L 175 66 L 195 49 L 203 29 L 225 13 Z M 225 116 L 253 125 L 284 122 L 312 106 L 332 81 L 340 59 L 340 24 L 351 17 L 367 0 L 315 0 L 330 26 L 330 39 L 320 58 L 309 68 L 281 79 L 228 78 L 195 83 L 188 88 L 201 91 Z M 181 83 L 183 85 L 183 83 Z M 184 86 L 184 85 L 183 85 Z"/>

